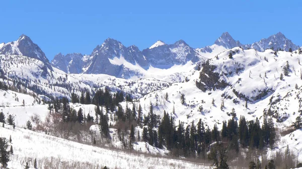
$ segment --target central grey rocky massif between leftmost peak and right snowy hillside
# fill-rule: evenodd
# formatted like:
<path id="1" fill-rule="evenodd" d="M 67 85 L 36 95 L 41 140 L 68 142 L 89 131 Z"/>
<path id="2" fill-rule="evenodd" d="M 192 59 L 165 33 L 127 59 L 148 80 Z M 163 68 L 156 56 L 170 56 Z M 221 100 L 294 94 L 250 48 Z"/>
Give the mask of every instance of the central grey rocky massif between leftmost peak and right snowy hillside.
<path id="1" fill-rule="evenodd" d="M 170 69 L 176 65 L 204 61 L 184 41 L 172 45 L 157 41 L 150 48 L 140 51 L 135 45 L 125 47 L 121 42 L 108 38 L 98 45 L 91 55 L 57 54 L 52 65 L 65 73 L 107 74 L 129 79 L 146 77 L 150 69 Z"/>

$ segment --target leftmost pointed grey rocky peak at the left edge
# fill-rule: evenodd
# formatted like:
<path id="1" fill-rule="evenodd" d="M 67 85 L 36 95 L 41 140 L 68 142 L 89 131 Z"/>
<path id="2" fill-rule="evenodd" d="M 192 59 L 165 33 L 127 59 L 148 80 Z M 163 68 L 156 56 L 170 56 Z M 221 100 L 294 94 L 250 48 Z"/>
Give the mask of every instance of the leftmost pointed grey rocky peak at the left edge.
<path id="1" fill-rule="evenodd" d="M 0 55 L 22 55 L 42 61 L 52 70 L 49 60 L 37 44 L 26 35 L 21 35 L 17 41 L 0 45 Z"/>

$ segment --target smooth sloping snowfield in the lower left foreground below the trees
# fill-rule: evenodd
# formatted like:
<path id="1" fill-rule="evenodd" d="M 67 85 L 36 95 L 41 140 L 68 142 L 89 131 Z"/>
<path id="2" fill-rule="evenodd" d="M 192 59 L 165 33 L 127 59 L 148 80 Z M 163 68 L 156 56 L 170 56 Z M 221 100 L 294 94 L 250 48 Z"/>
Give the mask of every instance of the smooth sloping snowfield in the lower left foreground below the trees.
<path id="1" fill-rule="evenodd" d="M 2 126 L 2 123 L 1 123 Z M 85 145 L 53 137 L 27 129 L 15 128 L 5 125 L 0 127 L 0 137 L 12 136 L 14 155 L 9 162 L 9 168 L 20 169 L 22 162 L 37 158 L 38 168 L 71 168 L 77 163 L 80 167 L 74 168 L 210 168 L 200 163 L 184 160 L 152 157 L 148 155 L 126 153 L 92 145 Z M 52 167 L 49 167 L 52 160 Z M 72 167 L 72 168 L 73 168 Z M 33 167 L 32 167 L 33 168 Z"/>

